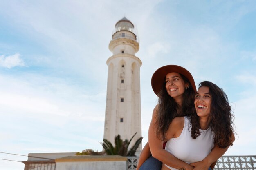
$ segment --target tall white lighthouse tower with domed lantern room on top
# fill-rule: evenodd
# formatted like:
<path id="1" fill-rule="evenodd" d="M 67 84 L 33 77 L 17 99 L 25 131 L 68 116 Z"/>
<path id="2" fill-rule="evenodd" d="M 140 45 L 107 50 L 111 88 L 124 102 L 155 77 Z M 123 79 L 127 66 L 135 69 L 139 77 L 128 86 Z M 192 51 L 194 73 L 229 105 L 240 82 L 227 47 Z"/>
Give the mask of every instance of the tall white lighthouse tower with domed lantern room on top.
<path id="1" fill-rule="evenodd" d="M 126 17 L 115 25 L 109 43 L 113 55 L 108 58 L 108 85 L 104 139 L 114 144 L 116 135 L 130 139 L 130 146 L 141 137 L 141 103 L 139 68 L 141 60 L 135 57 L 139 50 L 134 26 Z M 141 145 L 138 151 L 141 150 Z"/>

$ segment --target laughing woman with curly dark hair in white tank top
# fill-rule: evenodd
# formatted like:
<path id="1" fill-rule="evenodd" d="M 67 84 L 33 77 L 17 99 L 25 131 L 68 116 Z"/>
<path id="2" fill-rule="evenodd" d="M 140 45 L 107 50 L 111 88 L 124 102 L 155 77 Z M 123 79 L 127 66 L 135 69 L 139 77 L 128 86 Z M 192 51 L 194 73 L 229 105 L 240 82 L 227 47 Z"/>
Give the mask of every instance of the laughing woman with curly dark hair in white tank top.
<path id="1" fill-rule="evenodd" d="M 227 149 L 234 141 L 234 115 L 221 88 L 209 81 L 201 82 L 194 104 L 196 112 L 175 117 L 166 133 L 160 134 L 161 138 L 168 140 L 165 150 L 191 166 L 207 157 L 214 146 Z M 162 170 L 186 169 L 173 165 L 163 164 Z"/>

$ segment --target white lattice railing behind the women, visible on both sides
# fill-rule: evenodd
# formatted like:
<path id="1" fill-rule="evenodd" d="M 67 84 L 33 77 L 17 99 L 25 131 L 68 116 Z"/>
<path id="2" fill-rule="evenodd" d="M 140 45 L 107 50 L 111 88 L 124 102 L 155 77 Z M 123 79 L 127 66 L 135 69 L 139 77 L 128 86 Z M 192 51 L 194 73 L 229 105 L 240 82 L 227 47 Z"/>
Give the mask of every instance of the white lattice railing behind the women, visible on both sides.
<path id="1" fill-rule="evenodd" d="M 138 157 L 127 158 L 127 170 L 135 170 Z M 222 156 L 213 170 L 256 170 L 256 156 Z"/>

